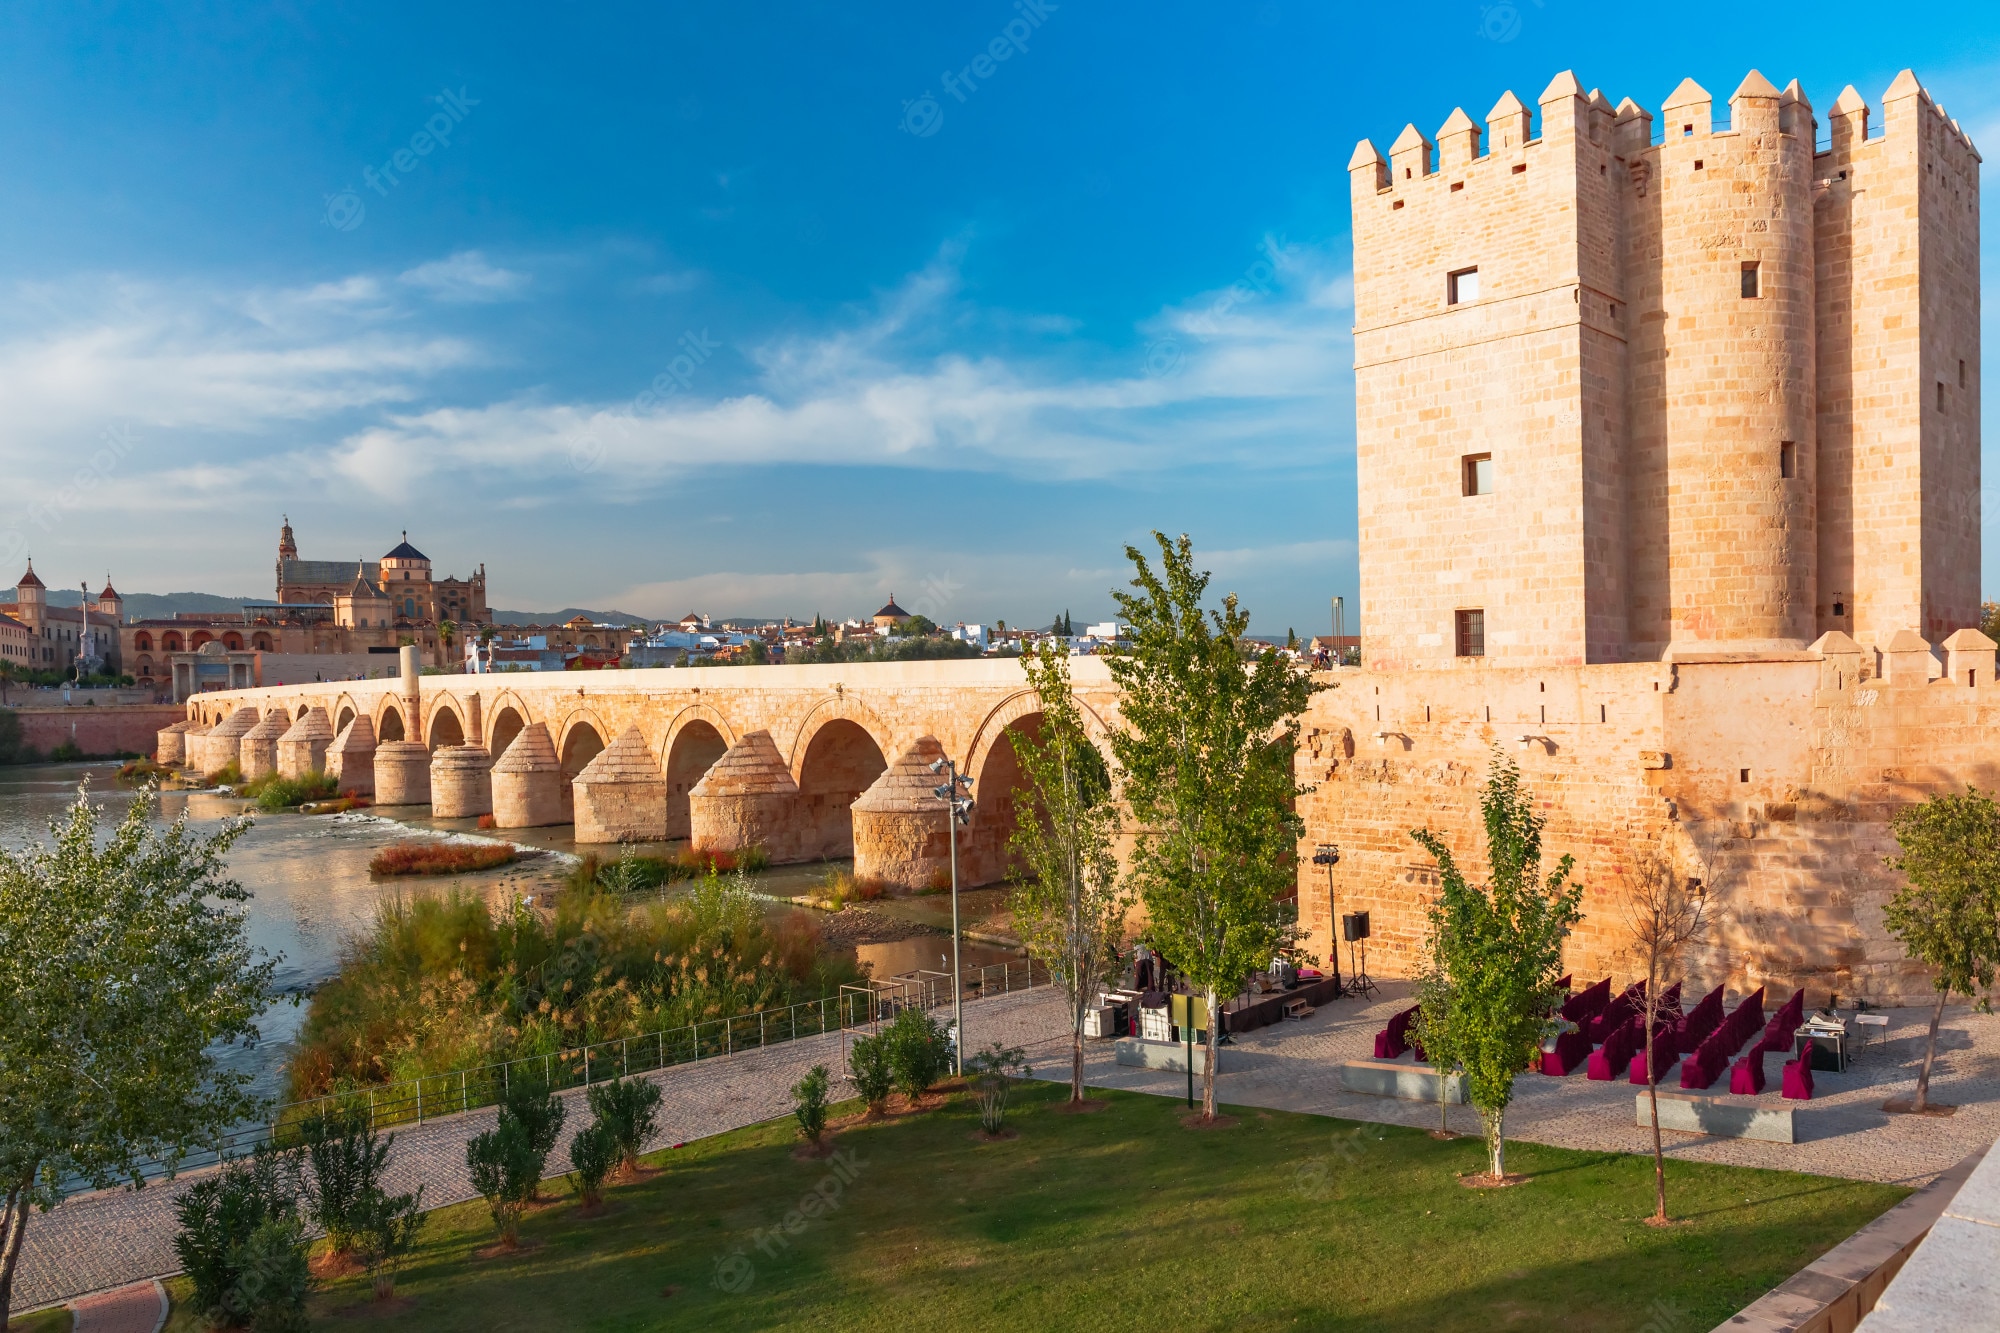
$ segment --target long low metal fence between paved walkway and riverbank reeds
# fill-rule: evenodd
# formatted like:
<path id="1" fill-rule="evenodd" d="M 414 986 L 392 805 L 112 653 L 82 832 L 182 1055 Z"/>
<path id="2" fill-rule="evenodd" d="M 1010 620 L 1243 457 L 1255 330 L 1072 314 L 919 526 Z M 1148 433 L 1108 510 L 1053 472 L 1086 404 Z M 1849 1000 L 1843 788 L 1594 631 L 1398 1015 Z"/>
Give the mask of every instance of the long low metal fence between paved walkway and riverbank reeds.
<path id="1" fill-rule="evenodd" d="M 992 963 L 976 971 L 966 969 L 964 981 L 966 999 L 980 999 L 1048 985 L 1048 969 L 1032 959 Z M 190 1153 L 176 1169 L 186 1171 L 190 1167 L 214 1165 L 228 1157 L 242 1157 L 266 1143 L 296 1143 L 300 1127 L 316 1115 L 352 1117 L 354 1121 L 366 1117 L 370 1129 L 422 1125 L 424 1121 L 494 1107 L 520 1079 L 534 1079 L 552 1091 L 590 1087 L 592 1083 L 622 1079 L 626 1075 L 692 1065 L 744 1051 L 762 1051 L 798 1041 L 800 1037 L 874 1029 L 902 1009 L 916 1007 L 928 1011 L 950 1003 L 952 985 L 948 973 L 906 973 L 870 983 L 868 987 L 842 987 L 838 995 L 826 995 L 784 1009 L 760 1009 L 728 1019 L 672 1027 L 644 1037 L 620 1037 L 616 1041 L 600 1041 L 498 1065 L 456 1069 L 404 1083 L 332 1093 L 310 1101 L 290 1101 L 278 1105 L 268 1121 L 238 1125 L 216 1147 Z M 148 1179 L 162 1177 L 166 1171 L 164 1161 L 148 1161 L 144 1165 Z"/>

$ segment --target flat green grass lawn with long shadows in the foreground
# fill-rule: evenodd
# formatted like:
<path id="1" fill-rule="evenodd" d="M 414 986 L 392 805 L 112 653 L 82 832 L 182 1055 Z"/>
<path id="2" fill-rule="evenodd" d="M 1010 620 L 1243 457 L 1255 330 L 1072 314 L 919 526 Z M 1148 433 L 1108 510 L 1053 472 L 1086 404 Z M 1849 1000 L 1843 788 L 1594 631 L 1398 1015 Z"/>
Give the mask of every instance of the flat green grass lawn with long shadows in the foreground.
<path id="1" fill-rule="evenodd" d="M 1908 1191 L 1668 1163 L 1686 1223 L 1646 1227 L 1652 1161 L 1510 1145 L 1526 1185 L 1474 1191 L 1476 1139 L 1234 1109 L 1190 1131 L 1182 1105 L 1066 1089 L 1018 1099 L 1018 1137 L 974 1139 L 964 1097 L 838 1135 L 852 1183 L 796 1233 L 764 1237 L 830 1181 L 790 1121 L 654 1155 L 612 1211 L 532 1215 L 532 1247 L 480 1259 L 484 1205 L 432 1215 L 400 1313 L 326 1327 L 412 1329 L 1708 1329 Z M 838 1159 L 836 1159 L 838 1161 Z M 820 1209 L 812 1209 L 820 1211 Z M 314 1297 L 324 1317 L 360 1279 Z M 170 1329 L 194 1329 L 176 1313 Z"/>

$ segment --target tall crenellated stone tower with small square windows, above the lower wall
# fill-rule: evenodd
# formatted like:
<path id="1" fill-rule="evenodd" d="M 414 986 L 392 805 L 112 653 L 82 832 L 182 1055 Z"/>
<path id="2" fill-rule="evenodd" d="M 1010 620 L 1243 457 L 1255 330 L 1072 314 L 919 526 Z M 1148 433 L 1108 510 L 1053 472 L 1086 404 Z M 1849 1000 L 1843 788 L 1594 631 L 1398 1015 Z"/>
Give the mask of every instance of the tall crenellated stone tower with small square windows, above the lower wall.
<path id="1" fill-rule="evenodd" d="M 1560 74 L 1348 164 L 1374 666 L 1882 644 L 1978 622 L 1978 154 L 1798 84 L 1730 126 Z M 1436 150 L 1436 156 L 1434 156 Z"/>

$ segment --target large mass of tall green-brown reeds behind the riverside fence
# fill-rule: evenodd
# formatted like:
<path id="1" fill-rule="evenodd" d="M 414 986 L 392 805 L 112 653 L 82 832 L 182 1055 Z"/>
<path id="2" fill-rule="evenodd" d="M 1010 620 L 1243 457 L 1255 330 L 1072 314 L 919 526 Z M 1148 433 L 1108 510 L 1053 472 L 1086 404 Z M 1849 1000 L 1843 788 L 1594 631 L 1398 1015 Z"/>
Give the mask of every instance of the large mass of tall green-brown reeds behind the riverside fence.
<path id="1" fill-rule="evenodd" d="M 804 911 L 778 923 L 742 877 L 632 905 L 562 893 L 552 915 L 460 889 L 388 903 L 312 997 L 290 1097 L 476 1069 L 818 999 L 860 981 Z"/>

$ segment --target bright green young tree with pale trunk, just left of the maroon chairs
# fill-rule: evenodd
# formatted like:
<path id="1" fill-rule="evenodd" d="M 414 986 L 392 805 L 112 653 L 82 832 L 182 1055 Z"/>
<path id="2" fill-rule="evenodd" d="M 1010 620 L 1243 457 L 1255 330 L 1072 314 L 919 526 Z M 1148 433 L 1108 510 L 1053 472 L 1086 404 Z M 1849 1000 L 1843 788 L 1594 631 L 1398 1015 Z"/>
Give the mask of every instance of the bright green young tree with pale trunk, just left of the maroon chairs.
<path id="1" fill-rule="evenodd" d="M 1430 829 L 1410 833 L 1438 863 L 1440 891 L 1428 911 L 1434 957 L 1450 987 L 1442 1049 L 1466 1071 L 1466 1099 L 1486 1127 L 1488 1169 L 1506 1179 L 1506 1107 L 1514 1075 L 1542 1051 L 1558 1005 L 1562 943 L 1582 919 L 1584 889 L 1570 881 L 1574 857 L 1542 877 L 1542 825 L 1522 791 L 1520 769 L 1494 751 L 1480 791 L 1486 825 L 1486 889 L 1466 883 L 1452 849 Z"/>

